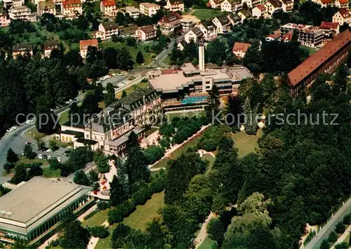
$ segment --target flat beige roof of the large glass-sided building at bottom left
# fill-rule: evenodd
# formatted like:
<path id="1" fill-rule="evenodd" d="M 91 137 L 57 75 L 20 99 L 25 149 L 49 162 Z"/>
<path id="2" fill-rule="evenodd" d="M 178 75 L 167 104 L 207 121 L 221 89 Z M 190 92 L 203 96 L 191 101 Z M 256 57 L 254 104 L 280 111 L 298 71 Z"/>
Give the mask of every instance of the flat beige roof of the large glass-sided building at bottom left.
<path id="1" fill-rule="evenodd" d="M 1 196 L 0 228 L 27 234 L 88 191 L 91 187 L 33 177 Z"/>

